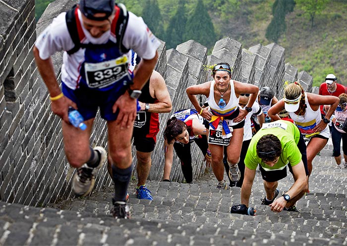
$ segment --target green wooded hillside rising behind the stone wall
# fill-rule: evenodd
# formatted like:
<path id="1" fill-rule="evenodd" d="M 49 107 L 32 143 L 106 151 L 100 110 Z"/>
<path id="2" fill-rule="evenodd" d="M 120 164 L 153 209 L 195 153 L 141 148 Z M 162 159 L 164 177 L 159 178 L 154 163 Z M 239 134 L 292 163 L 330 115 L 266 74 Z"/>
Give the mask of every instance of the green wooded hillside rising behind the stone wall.
<path id="1" fill-rule="evenodd" d="M 53 0 L 36 0 L 37 18 Z M 286 49 L 286 62 L 313 76 L 319 86 L 334 73 L 347 85 L 346 0 L 123 0 L 142 16 L 167 48 L 194 39 L 211 52 L 214 43 L 230 36 L 248 49 L 278 43 Z M 302 2 L 322 5 L 310 19 Z M 273 22 L 273 23 L 271 23 Z M 271 23 L 271 25 L 270 25 Z M 275 23 L 275 24 L 274 24 Z M 269 25 L 275 39 L 268 39 Z M 275 27 L 274 27 L 275 25 Z M 276 29 L 277 28 L 277 29 Z M 276 40 L 276 41 L 274 41 Z"/>

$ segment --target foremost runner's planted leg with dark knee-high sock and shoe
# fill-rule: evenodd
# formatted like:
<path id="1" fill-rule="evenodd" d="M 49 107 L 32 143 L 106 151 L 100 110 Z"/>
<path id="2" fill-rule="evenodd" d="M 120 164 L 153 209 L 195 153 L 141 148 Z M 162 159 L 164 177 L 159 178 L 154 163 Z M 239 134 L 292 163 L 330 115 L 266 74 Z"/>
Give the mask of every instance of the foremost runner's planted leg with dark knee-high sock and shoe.
<path id="1" fill-rule="evenodd" d="M 114 208 L 115 218 L 129 218 L 129 208 L 126 206 L 127 187 L 132 173 L 131 137 L 133 127 L 120 129 L 116 121 L 108 121 L 108 161 L 111 165 L 112 177 L 115 183 Z"/>

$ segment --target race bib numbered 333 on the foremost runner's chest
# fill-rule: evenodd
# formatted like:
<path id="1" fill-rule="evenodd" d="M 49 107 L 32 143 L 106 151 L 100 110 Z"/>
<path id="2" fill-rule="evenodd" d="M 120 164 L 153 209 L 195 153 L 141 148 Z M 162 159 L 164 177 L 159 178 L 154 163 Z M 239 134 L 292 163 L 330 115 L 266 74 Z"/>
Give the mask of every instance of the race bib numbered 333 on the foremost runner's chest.
<path id="1" fill-rule="evenodd" d="M 128 75 L 128 59 L 123 55 L 106 62 L 85 62 L 84 69 L 88 87 L 103 88 Z"/>

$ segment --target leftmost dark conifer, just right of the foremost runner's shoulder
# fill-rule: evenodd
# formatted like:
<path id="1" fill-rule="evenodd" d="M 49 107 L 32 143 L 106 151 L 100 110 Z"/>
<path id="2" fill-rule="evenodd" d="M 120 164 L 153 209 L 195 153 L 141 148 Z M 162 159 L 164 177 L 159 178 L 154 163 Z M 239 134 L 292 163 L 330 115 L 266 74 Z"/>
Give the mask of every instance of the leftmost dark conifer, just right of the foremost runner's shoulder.
<path id="1" fill-rule="evenodd" d="M 160 39 L 164 39 L 165 32 L 163 27 L 162 15 L 157 0 L 148 0 L 142 10 L 142 18 L 151 31 Z"/>

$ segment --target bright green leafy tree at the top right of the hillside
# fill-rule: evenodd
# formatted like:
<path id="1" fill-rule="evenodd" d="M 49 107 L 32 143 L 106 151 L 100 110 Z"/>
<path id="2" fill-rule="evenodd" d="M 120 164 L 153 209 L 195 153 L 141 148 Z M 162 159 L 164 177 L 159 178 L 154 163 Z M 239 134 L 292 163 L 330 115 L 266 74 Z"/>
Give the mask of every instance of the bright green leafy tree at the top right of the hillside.
<path id="1" fill-rule="evenodd" d="M 311 28 L 314 25 L 314 17 L 322 12 L 329 0 L 295 0 L 296 6 L 304 11 L 304 14 L 309 18 Z"/>

